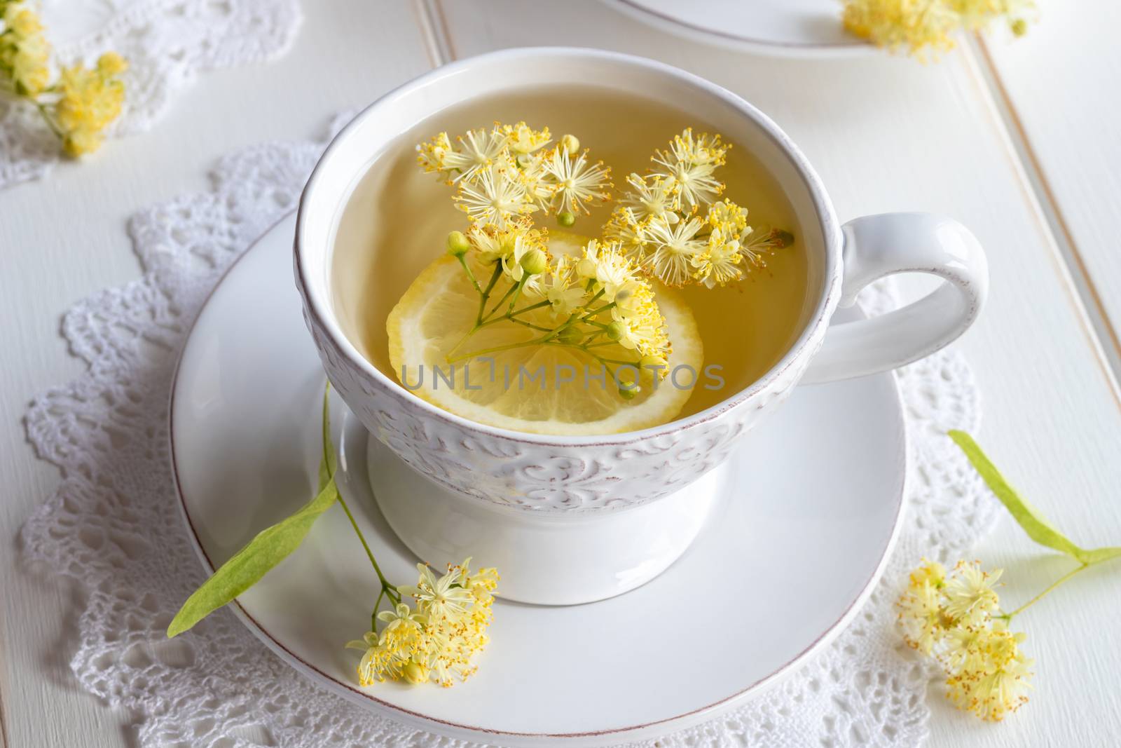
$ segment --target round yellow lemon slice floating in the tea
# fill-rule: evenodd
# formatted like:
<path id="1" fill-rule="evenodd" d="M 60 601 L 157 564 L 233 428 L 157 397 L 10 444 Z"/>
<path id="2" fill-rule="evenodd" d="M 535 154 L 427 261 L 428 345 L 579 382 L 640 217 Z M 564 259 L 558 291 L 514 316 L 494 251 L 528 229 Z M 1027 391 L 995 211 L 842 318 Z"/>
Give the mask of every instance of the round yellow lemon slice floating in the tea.
<path id="1" fill-rule="evenodd" d="M 577 234 L 552 231 L 549 251 L 578 256 L 586 241 Z M 490 277 L 487 268 L 472 269 L 480 283 Z M 692 372 L 655 382 L 646 371 L 637 396 L 631 399 L 619 393 L 612 372 L 619 368 L 603 363 L 603 360 L 633 360 L 633 352 L 618 345 L 597 347 L 595 355 L 552 344 L 472 355 L 476 351 L 516 345 L 543 333 L 503 321 L 482 327 L 463 341 L 475 322 L 479 294 L 460 264 L 447 256 L 425 268 L 390 312 L 386 323 L 389 360 L 393 373 L 415 395 L 491 426 L 556 435 L 618 434 L 648 428 L 673 421 L 680 413 L 693 391 L 685 385 L 696 382 L 702 367 L 701 338 L 688 305 L 660 287 L 657 301 L 673 344 L 668 370 L 689 367 Z M 557 325 L 548 307 L 518 318 L 543 327 Z"/>

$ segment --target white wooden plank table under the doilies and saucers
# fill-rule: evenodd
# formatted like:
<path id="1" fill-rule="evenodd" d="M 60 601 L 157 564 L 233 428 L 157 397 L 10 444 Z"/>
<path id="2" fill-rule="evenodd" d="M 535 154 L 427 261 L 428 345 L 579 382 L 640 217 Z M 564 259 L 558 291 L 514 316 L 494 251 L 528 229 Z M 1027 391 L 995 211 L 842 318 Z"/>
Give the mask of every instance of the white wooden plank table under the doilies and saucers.
<path id="1" fill-rule="evenodd" d="M 957 345 L 984 396 L 981 442 L 1077 541 L 1121 543 L 1121 7 L 1043 0 L 1015 44 L 970 39 L 921 66 L 751 57 L 651 30 L 591 0 L 317 0 L 295 49 L 203 76 L 155 130 L 82 166 L 0 192 L 0 741 L 131 746 L 138 715 L 84 693 L 68 669 L 80 591 L 18 566 L 17 534 L 58 481 L 24 440 L 31 396 L 81 363 L 58 334 L 77 299 L 138 275 L 126 219 L 205 187 L 207 168 L 267 139 L 317 137 L 452 58 L 564 44 L 646 55 L 710 77 L 803 147 L 842 219 L 928 210 L 981 238 L 991 302 Z M 1023 600 L 1067 563 L 1010 521 L 976 556 Z M 932 692 L 935 746 L 1104 746 L 1121 735 L 1121 569 L 1097 569 L 1022 617 L 1036 691 L 1001 726 Z"/>

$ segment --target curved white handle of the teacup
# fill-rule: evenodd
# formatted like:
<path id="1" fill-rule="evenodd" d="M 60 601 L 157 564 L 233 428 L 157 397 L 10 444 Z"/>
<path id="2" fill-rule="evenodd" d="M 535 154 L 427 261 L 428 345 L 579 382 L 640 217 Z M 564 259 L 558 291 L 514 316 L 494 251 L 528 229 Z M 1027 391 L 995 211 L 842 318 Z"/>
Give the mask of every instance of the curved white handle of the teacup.
<path id="1" fill-rule="evenodd" d="M 844 234 L 841 306 L 873 280 L 929 273 L 944 283 L 914 304 L 870 320 L 833 323 L 803 378 L 834 381 L 917 361 L 973 324 L 989 293 L 981 243 L 957 221 L 932 213 L 881 213 L 849 221 Z"/>

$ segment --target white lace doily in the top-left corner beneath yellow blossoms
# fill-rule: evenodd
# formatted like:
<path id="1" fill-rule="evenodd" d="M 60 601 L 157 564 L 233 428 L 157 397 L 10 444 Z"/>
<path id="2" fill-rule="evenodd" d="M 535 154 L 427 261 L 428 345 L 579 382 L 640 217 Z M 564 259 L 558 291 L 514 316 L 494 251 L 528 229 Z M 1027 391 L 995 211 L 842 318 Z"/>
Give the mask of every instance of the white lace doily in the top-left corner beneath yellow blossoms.
<path id="1" fill-rule="evenodd" d="M 298 0 L 33 0 L 31 7 L 61 64 L 90 63 L 109 49 L 129 61 L 124 108 L 110 135 L 150 128 L 200 71 L 284 54 L 302 19 Z M 0 190 L 43 177 L 59 158 L 58 138 L 35 107 L 0 96 Z"/>

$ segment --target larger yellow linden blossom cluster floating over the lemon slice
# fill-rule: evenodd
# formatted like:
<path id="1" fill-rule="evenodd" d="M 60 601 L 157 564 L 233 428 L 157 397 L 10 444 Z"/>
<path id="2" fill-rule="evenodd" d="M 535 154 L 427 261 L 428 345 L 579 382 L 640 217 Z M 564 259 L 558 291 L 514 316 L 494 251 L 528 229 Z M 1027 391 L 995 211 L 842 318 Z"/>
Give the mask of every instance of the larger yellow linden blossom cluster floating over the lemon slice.
<path id="1" fill-rule="evenodd" d="M 611 185 L 609 169 L 591 164 L 575 136 L 545 149 L 548 142 L 548 128 L 519 122 L 472 130 L 456 138 L 457 146 L 444 132 L 417 146 L 421 167 L 457 187 L 454 200 L 471 220 L 466 232 L 448 234 L 447 251 L 479 293 L 479 311 L 447 361 L 530 345 L 575 348 L 604 367 L 620 397 L 633 399 L 642 375 L 666 376 L 666 321 L 649 280 L 618 241 L 591 240 L 580 257 L 549 253 L 548 233 L 530 214 L 552 211 L 571 225 L 577 211 L 609 200 Z M 475 332 L 500 322 L 540 334 L 461 352 Z"/>

